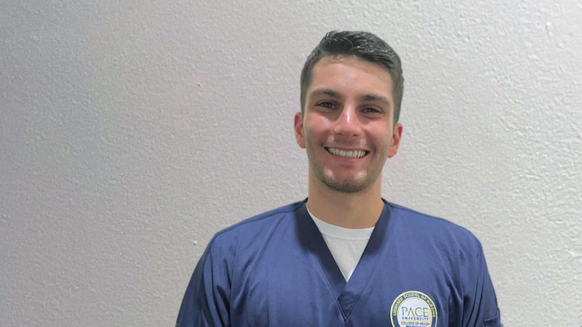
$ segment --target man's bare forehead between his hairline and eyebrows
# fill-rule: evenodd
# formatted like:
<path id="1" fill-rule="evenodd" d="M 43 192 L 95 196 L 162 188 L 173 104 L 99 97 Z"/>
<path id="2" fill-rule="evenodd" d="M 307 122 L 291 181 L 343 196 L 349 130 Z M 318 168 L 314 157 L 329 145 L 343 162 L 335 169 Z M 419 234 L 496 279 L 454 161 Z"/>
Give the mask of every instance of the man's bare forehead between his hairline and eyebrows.
<path id="1" fill-rule="evenodd" d="M 307 97 L 313 90 L 329 88 L 342 95 L 379 94 L 392 99 L 392 76 L 379 65 L 356 56 L 326 56 L 311 70 Z"/>

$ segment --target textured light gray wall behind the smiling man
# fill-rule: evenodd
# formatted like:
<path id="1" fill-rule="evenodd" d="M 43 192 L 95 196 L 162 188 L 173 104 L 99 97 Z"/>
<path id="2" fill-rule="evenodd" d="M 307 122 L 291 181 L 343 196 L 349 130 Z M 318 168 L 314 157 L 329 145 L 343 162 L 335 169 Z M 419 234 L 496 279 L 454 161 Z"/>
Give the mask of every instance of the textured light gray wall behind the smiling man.
<path id="1" fill-rule="evenodd" d="M 506 326 L 581 326 L 581 1 L 3 1 L 0 325 L 172 326 L 215 232 L 306 196 L 332 29 L 403 60 L 384 197 L 479 237 Z"/>

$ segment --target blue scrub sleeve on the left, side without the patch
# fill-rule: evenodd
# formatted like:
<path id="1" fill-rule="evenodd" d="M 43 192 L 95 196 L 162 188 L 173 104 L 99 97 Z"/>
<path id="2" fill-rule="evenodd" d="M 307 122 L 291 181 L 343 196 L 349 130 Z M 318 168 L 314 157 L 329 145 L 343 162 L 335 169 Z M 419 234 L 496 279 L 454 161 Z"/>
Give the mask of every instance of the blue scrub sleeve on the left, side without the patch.
<path id="1" fill-rule="evenodd" d="M 223 254 L 213 239 L 194 269 L 176 327 L 230 326 L 230 278 Z"/>

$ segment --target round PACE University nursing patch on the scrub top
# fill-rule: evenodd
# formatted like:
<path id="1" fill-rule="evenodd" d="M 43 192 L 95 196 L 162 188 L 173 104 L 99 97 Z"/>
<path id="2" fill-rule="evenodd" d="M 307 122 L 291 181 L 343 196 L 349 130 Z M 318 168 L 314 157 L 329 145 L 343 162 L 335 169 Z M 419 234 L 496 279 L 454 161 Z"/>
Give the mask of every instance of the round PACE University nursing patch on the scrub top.
<path id="1" fill-rule="evenodd" d="M 427 294 L 408 291 L 392 302 L 392 327 L 437 327 L 437 307 Z"/>

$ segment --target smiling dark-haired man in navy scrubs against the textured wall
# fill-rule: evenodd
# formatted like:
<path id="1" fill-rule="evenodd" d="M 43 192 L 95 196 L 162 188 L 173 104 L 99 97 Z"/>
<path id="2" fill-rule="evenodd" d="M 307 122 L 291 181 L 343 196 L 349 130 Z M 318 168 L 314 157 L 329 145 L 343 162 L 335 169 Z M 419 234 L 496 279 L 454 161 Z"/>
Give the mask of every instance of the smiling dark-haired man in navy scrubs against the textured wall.
<path id="1" fill-rule="evenodd" d="M 301 72 L 294 118 L 308 198 L 217 233 L 177 326 L 501 326 L 473 234 L 381 197 L 402 93 L 388 44 L 325 35 Z"/>

